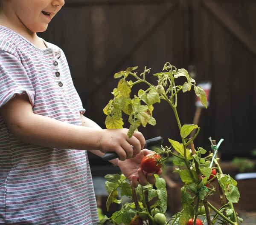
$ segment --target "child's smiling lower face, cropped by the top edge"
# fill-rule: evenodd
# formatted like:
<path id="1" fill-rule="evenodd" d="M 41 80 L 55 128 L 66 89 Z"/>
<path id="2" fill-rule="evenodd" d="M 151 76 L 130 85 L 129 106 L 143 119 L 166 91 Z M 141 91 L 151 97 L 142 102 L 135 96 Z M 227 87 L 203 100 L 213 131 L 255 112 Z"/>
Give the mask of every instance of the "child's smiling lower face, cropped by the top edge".
<path id="1" fill-rule="evenodd" d="M 64 6 L 64 0 L 8 0 L 13 21 L 23 23 L 32 33 L 47 29 L 52 17 Z"/>

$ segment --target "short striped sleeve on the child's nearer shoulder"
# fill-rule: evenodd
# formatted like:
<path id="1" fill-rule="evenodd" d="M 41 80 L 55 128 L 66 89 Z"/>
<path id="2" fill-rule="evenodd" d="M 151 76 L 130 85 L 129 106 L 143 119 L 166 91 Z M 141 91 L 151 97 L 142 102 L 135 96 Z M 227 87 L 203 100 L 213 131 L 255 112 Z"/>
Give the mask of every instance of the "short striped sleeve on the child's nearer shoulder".
<path id="1" fill-rule="evenodd" d="M 14 55 L 0 51 L 0 108 L 16 94 L 27 94 L 35 103 L 35 90 L 24 66 Z"/>

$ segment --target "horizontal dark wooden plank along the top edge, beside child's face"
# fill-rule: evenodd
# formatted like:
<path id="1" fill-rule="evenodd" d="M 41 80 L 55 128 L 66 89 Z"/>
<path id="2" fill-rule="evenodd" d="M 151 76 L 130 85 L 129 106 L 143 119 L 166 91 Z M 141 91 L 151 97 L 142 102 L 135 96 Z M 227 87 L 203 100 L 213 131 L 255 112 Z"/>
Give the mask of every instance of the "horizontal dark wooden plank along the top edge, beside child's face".
<path id="1" fill-rule="evenodd" d="M 175 0 L 65 0 L 65 6 L 106 6 L 106 5 L 134 5 L 134 4 L 166 4 L 173 3 Z"/>

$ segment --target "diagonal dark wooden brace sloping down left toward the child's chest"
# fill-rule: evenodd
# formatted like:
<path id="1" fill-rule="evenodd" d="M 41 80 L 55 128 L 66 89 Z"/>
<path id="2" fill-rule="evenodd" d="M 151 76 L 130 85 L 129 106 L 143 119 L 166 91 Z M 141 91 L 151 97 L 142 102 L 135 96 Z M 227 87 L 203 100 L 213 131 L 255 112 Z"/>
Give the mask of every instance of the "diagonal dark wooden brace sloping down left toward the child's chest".
<path id="1" fill-rule="evenodd" d="M 109 78 L 113 76 L 116 69 L 119 68 L 119 66 L 121 66 L 125 60 L 134 53 L 135 49 L 139 48 L 141 44 L 144 43 L 148 37 L 150 37 L 154 30 L 157 29 L 172 14 L 172 12 L 175 11 L 175 9 L 177 9 L 177 6 L 178 2 L 176 1 L 175 4 L 172 4 L 166 9 L 165 12 L 163 12 L 162 16 L 154 24 L 152 24 L 152 26 L 148 26 L 147 29 L 138 34 L 136 40 L 131 40 L 129 43 L 124 43 L 124 45 L 119 48 L 119 51 L 113 54 L 113 57 L 108 59 L 105 66 L 101 68 L 95 75 L 95 77 L 102 77 L 101 74 L 105 74 L 105 77 L 99 81 L 99 84 L 93 88 L 89 95 L 82 99 L 84 104 L 92 99 L 93 95 L 95 95 L 96 92 L 99 91 L 103 85 L 105 85 Z"/>

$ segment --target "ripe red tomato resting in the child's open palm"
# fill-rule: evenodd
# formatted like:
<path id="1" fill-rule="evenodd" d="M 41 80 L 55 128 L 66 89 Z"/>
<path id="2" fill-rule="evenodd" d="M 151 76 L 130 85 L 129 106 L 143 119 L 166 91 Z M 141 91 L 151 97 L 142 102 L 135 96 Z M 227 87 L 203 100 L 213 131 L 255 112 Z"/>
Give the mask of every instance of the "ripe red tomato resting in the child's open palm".
<path id="1" fill-rule="evenodd" d="M 140 168 L 148 173 L 154 173 L 160 170 L 162 167 L 161 163 L 159 163 L 160 155 L 155 153 L 147 154 L 140 163 Z M 158 165 L 157 165 L 158 163 Z"/>

